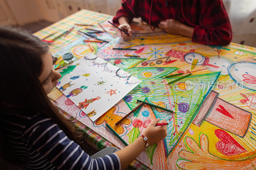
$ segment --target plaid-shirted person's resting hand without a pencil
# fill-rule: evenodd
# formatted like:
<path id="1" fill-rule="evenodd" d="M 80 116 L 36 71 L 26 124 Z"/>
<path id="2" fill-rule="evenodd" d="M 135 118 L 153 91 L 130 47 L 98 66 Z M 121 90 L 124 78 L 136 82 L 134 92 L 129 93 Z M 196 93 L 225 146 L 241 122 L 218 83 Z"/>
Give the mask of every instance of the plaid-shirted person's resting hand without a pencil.
<path id="1" fill-rule="evenodd" d="M 180 34 L 180 28 L 183 25 L 175 19 L 166 19 L 158 24 L 159 28 L 169 34 Z"/>

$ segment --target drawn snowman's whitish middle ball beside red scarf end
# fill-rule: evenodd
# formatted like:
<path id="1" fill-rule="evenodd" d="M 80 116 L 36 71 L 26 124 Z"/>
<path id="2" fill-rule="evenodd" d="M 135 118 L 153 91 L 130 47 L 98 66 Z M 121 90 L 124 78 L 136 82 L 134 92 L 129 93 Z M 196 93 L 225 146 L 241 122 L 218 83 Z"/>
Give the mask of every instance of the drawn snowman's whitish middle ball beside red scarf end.
<path id="1" fill-rule="evenodd" d="M 209 57 L 209 60 L 207 64 L 205 64 L 205 67 L 211 71 L 211 72 L 218 72 L 221 71 L 221 75 L 227 75 L 228 74 L 228 66 L 230 66 L 233 62 L 231 60 L 228 60 L 223 57 L 212 56 Z"/>

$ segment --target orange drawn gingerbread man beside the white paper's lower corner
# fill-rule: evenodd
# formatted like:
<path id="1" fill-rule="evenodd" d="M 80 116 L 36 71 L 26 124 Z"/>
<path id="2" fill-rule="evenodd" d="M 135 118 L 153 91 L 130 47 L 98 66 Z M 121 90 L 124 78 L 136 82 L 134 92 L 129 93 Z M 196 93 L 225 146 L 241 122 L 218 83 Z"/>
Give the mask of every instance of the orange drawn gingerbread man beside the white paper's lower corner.
<path id="1" fill-rule="evenodd" d="M 118 116 L 116 114 L 114 114 L 116 108 L 112 107 L 110 108 L 106 113 L 104 113 L 101 117 L 99 117 L 99 119 L 96 121 L 95 125 L 100 125 L 103 122 L 109 124 L 110 127 L 112 127 L 116 133 L 118 134 L 122 134 L 124 132 L 124 128 L 121 124 L 131 124 L 132 121 L 131 119 L 124 119 L 122 121 L 122 123 L 118 124 L 117 126 L 115 125 L 116 122 L 118 122 L 121 118 L 121 116 Z"/>

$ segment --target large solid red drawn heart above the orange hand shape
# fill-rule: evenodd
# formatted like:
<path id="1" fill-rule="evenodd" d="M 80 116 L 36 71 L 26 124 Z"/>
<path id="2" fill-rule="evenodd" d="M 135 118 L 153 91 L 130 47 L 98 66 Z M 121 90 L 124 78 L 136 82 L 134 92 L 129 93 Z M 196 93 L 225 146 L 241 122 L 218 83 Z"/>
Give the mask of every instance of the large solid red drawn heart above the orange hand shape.
<path id="1" fill-rule="evenodd" d="M 243 146 L 241 146 L 232 136 L 230 136 L 226 131 L 222 129 L 216 129 L 214 131 L 217 138 L 220 139 L 216 143 L 216 149 L 227 156 L 239 155 L 246 152 Z"/>

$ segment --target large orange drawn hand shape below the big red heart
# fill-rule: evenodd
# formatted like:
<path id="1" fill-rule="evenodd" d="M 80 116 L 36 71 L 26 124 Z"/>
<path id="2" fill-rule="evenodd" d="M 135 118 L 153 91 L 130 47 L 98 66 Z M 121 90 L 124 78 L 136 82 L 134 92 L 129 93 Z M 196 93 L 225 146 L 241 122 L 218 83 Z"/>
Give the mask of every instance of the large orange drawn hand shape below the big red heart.
<path id="1" fill-rule="evenodd" d="M 227 160 L 214 156 L 209 152 L 208 137 L 201 133 L 199 135 L 199 145 L 193 138 L 186 137 L 185 143 L 192 152 L 182 150 L 179 153 L 181 159 L 177 160 L 176 165 L 181 169 L 204 169 L 204 170 L 228 170 L 228 169 L 254 169 L 256 166 L 256 152 L 248 152 L 250 159 Z"/>

